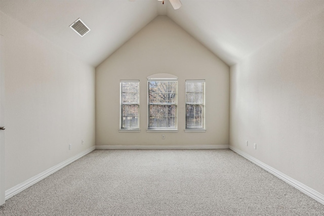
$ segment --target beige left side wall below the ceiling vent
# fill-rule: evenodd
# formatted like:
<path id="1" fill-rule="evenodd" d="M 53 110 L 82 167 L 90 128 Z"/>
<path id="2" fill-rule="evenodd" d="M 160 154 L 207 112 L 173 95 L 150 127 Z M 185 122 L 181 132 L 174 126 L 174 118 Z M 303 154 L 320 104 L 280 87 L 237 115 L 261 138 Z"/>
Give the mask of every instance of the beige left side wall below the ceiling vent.
<path id="1" fill-rule="evenodd" d="M 95 145 L 95 69 L 3 13 L 1 33 L 9 189 Z"/>

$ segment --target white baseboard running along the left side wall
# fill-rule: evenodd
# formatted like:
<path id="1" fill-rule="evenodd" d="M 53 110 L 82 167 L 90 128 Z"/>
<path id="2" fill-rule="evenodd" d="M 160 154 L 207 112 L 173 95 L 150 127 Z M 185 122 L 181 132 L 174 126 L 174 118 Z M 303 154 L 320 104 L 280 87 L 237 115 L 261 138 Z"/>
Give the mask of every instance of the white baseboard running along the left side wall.
<path id="1" fill-rule="evenodd" d="M 45 179 L 46 177 L 50 176 L 51 174 L 53 174 L 54 172 L 56 172 L 57 170 L 63 168 L 64 166 L 74 162 L 75 160 L 79 159 L 80 157 L 83 157 L 85 156 L 86 154 L 92 152 L 93 150 L 95 150 L 96 147 L 93 146 L 59 164 L 57 164 L 56 166 L 53 166 L 52 168 L 49 168 L 47 170 L 45 170 L 44 172 L 42 172 L 41 174 L 38 174 L 37 176 L 34 176 L 30 179 L 28 179 L 27 181 L 13 187 L 13 188 L 10 188 L 8 189 L 6 192 L 5 192 L 5 199 L 9 199 L 10 197 L 18 194 L 19 192 L 25 190 L 26 188 L 32 186 L 33 184 L 41 181 L 42 179 Z"/>

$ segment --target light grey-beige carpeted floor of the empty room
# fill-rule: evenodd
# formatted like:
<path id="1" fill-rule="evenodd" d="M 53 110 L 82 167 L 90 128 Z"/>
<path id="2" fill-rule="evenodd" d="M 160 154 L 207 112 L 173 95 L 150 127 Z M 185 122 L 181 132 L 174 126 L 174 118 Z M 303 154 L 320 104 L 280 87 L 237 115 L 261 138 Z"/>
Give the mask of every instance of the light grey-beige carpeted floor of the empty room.
<path id="1" fill-rule="evenodd" d="M 0 215 L 324 215 L 324 205 L 228 149 L 95 150 Z"/>

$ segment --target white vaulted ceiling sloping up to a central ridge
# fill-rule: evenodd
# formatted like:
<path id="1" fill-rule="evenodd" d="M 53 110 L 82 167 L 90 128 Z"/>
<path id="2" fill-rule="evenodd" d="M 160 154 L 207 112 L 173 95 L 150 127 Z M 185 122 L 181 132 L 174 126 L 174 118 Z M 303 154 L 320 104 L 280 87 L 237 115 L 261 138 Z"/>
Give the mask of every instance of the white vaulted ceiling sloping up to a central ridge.
<path id="1" fill-rule="evenodd" d="M 314 14 L 324 1 L 0 1 L 1 11 L 83 61 L 98 66 L 158 15 L 166 15 L 228 65 Z M 84 37 L 69 25 L 81 18 Z"/>

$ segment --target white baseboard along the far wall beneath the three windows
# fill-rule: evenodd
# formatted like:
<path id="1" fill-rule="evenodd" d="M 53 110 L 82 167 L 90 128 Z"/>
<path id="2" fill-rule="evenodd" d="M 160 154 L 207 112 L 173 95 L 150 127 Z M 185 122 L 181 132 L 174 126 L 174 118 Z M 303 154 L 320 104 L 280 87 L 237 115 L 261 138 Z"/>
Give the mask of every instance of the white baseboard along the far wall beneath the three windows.
<path id="1" fill-rule="evenodd" d="M 97 145 L 96 149 L 228 149 L 229 145 Z"/>

